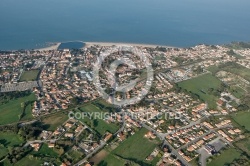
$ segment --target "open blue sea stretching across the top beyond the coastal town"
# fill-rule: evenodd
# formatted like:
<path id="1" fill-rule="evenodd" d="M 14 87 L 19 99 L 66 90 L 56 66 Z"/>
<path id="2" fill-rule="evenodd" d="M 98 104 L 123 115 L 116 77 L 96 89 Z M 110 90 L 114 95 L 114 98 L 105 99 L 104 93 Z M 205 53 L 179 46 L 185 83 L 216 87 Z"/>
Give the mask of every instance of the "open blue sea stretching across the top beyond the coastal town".
<path id="1" fill-rule="evenodd" d="M 250 41 L 249 0 L 1 0 L 0 50 L 50 42 Z"/>

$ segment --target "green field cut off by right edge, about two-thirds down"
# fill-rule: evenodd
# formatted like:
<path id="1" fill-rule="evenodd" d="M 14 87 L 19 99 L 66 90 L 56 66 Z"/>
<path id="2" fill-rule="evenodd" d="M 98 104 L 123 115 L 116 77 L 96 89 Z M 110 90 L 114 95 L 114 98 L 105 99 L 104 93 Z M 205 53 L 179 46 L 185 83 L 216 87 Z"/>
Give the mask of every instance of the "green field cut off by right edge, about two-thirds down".
<path id="1" fill-rule="evenodd" d="M 246 130 L 250 131 L 250 112 L 239 112 L 233 115 L 233 119 L 241 126 L 244 126 Z"/>

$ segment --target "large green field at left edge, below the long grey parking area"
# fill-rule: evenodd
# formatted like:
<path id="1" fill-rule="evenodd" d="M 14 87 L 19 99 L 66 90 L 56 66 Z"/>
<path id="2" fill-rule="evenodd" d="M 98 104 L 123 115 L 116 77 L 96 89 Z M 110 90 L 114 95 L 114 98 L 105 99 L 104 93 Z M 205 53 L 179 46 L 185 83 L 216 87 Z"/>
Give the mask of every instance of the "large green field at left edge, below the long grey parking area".
<path id="1" fill-rule="evenodd" d="M 0 125 L 9 124 L 19 121 L 19 116 L 22 113 L 22 105 L 26 101 L 34 101 L 36 100 L 35 94 L 31 94 L 29 96 L 21 97 L 15 100 L 11 100 L 6 104 L 0 105 Z M 28 106 L 25 110 L 24 117 L 30 117 L 31 114 L 31 106 Z"/>

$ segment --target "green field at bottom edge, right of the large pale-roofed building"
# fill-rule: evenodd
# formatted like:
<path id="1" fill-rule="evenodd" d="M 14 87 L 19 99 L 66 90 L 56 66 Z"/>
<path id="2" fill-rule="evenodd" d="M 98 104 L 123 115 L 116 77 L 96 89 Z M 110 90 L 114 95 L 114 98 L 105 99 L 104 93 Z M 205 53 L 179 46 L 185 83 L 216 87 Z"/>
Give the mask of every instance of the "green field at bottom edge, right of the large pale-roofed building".
<path id="1" fill-rule="evenodd" d="M 231 163 L 234 159 L 237 159 L 240 157 L 240 152 L 238 152 L 236 149 L 230 148 L 223 153 L 213 159 L 210 163 L 207 164 L 207 166 L 223 166 L 226 163 Z"/>

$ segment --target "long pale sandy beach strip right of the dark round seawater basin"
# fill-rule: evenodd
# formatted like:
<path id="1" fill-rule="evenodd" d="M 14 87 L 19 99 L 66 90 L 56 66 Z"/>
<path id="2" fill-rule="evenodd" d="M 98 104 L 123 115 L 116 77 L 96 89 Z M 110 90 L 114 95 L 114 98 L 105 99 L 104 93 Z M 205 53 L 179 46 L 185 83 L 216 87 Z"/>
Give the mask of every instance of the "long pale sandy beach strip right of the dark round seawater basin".
<path id="1" fill-rule="evenodd" d="M 155 45 L 155 44 L 140 44 L 140 43 L 111 43 L 111 42 L 84 42 L 85 46 L 84 47 L 91 47 L 94 45 L 99 45 L 99 46 L 113 46 L 113 45 L 129 45 L 129 46 L 137 46 L 137 47 L 152 47 L 155 48 L 157 46 L 161 47 L 169 47 L 169 48 L 175 48 L 172 46 L 163 46 L 163 45 Z"/>

